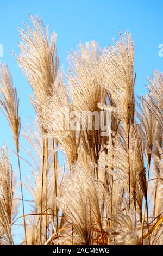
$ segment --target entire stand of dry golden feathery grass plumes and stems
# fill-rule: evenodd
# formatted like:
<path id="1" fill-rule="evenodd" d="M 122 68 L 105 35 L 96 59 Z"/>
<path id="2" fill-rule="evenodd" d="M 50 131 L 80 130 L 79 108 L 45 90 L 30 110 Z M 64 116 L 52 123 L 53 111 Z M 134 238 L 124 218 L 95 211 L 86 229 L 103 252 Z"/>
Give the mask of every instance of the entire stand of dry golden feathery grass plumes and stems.
<path id="1" fill-rule="evenodd" d="M 39 16 L 29 17 L 32 27 L 24 23 L 25 29 L 19 29 L 16 59 L 33 89 L 36 120 L 21 132 L 23 100 L 19 104 L 10 71 L 0 64 L 0 108 L 13 133 L 21 183 L 21 198 L 13 198 L 5 146 L 0 158 L 0 245 L 14 245 L 12 227 L 22 218 L 23 245 L 160 245 L 162 73 L 154 71 L 147 95 L 139 95 L 135 104 L 129 32 L 119 33 L 104 49 L 95 40 L 80 42 L 68 54 L 64 72 L 55 32 L 50 35 Z M 26 166 L 23 183 L 20 159 Z M 30 194 L 28 212 L 24 190 Z"/>

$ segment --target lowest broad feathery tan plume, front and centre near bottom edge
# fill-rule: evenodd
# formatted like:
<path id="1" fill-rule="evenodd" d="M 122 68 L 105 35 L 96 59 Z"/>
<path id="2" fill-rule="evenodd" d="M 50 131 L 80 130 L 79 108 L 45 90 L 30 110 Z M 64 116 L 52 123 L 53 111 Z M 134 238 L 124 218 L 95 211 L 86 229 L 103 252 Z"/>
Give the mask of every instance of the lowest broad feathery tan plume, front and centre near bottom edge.
<path id="1" fill-rule="evenodd" d="M 74 239 L 81 245 L 93 243 L 93 228 L 98 228 L 102 233 L 96 183 L 91 175 L 91 172 L 86 172 L 84 166 L 78 163 L 65 180 L 61 197 L 58 198 L 58 205 L 76 230 L 77 236 Z"/>

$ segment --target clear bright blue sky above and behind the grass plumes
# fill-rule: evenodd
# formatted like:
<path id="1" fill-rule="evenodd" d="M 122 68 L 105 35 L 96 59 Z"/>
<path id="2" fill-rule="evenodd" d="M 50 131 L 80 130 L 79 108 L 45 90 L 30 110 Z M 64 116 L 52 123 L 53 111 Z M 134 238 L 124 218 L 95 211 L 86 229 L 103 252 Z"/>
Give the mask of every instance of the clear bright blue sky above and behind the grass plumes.
<path id="1" fill-rule="evenodd" d="M 96 40 L 101 48 L 112 44 L 112 38 L 118 38 L 129 30 L 135 44 L 135 72 L 137 73 L 135 92 L 144 94 L 146 77 L 153 74 L 154 69 L 163 70 L 163 57 L 159 57 L 159 44 L 163 43 L 162 0 L 24 0 L 1 1 L 0 3 L 0 44 L 4 48 L 2 63 L 7 63 L 14 79 L 20 97 L 20 115 L 22 123 L 34 117 L 29 102 L 32 93 L 26 79 L 18 68 L 11 50 L 18 53 L 19 40 L 17 27 L 22 28 L 22 22 L 29 23 L 28 13 L 38 14 L 45 25 L 50 25 L 51 31 L 57 33 L 57 47 L 60 64 L 66 69 L 67 52 L 82 42 Z M 16 158 L 12 154 L 14 144 L 12 135 L 2 113 L 0 113 L 0 145 L 7 143 L 10 150 L 10 160 L 17 172 Z M 26 144 L 25 144 L 26 145 Z M 22 153 L 23 154 L 23 153 Z M 30 174 L 28 167 L 21 162 L 23 178 Z M 25 197 L 29 198 L 25 193 Z M 29 206 L 26 205 L 26 212 Z M 15 234 L 17 231 L 15 230 Z M 17 237 L 16 242 L 20 239 Z"/>

